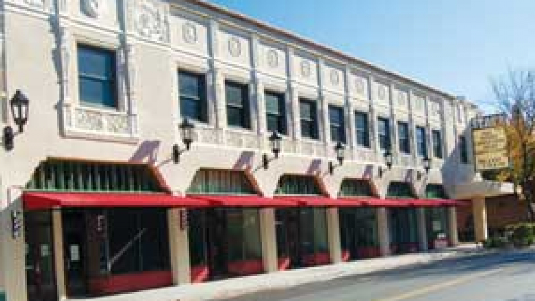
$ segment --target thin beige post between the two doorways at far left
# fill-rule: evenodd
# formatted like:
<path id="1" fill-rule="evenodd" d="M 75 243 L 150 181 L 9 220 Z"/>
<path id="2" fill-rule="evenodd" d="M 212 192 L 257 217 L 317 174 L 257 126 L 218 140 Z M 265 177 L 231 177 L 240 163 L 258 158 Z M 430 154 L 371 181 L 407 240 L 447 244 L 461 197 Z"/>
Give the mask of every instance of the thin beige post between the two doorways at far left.
<path id="1" fill-rule="evenodd" d="M 63 246 L 63 220 L 60 210 L 52 211 L 52 238 L 54 242 L 54 267 L 56 273 L 56 287 L 58 299 L 67 299 L 67 285 L 65 281 L 65 256 Z"/>

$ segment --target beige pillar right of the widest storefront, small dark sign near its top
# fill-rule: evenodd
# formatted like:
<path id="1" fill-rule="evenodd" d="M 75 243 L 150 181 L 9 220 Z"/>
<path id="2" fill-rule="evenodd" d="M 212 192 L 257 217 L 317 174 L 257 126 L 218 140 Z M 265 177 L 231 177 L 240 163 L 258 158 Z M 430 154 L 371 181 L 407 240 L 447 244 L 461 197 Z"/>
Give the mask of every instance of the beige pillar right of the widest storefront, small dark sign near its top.
<path id="1" fill-rule="evenodd" d="M 188 241 L 189 225 L 187 225 L 186 220 L 181 222 L 181 219 L 187 219 L 187 214 L 182 212 L 185 210 L 186 209 L 173 208 L 167 211 L 171 271 L 173 273 L 174 284 L 191 282 Z"/>

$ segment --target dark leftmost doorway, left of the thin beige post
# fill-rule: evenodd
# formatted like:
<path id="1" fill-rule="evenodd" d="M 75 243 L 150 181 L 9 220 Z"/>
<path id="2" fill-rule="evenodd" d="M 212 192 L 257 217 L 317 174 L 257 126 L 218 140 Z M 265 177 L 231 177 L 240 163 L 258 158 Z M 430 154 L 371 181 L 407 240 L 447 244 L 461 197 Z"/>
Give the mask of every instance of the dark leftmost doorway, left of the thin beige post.
<path id="1" fill-rule="evenodd" d="M 58 298 L 53 258 L 52 213 L 24 213 L 26 240 L 26 291 L 28 300 Z"/>

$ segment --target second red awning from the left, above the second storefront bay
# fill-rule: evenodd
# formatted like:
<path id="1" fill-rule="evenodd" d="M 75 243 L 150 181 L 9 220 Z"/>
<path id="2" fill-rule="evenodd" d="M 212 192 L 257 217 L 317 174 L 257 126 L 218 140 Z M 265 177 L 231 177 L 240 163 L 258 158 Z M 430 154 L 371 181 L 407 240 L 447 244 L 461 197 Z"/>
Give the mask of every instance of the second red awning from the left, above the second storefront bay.
<path id="1" fill-rule="evenodd" d="M 190 195 L 188 197 L 209 202 L 212 207 L 295 207 L 298 205 L 294 200 L 257 195 Z"/>

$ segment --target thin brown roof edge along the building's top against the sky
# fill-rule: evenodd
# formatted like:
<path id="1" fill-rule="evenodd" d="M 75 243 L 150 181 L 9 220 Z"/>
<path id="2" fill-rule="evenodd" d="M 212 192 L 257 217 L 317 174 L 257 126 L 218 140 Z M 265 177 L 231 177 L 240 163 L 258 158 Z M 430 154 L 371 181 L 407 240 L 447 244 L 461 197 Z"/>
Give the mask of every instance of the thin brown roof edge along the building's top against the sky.
<path id="1" fill-rule="evenodd" d="M 364 66 L 372 68 L 372 69 L 374 69 L 376 71 L 379 71 L 379 72 L 382 72 L 382 73 L 386 73 L 387 75 L 395 76 L 398 79 L 401 79 L 401 80 L 407 81 L 409 83 L 415 84 L 416 86 L 419 86 L 421 88 L 429 89 L 429 90 L 431 90 L 431 91 L 433 91 L 433 92 L 435 92 L 437 94 L 440 94 L 442 96 L 446 96 L 446 97 L 449 97 L 449 98 L 457 99 L 457 97 L 455 95 L 453 95 L 453 94 L 451 94 L 449 92 L 446 92 L 446 91 L 444 91 L 442 89 L 439 89 L 437 87 L 430 86 L 429 84 L 423 83 L 422 81 L 416 80 L 414 78 L 410 78 L 409 76 L 402 75 L 401 73 L 398 73 L 398 72 L 395 72 L 395 71 L 387 70 L 386 68 L 381 67 L 381 66 L 379 66 L 377 64 L 370 63 L 369 61 L 366 61 L 364 59 L 358 58 L 358 57 L 353 56 L 353 55 L 349 55 L 348 53 L 345 53 L 343 51 L 340 51 L 340 50 L 334 49 L 332 47 L 329 47 L 327 45 L 312 41 L 310 38 L 303 37 L 303 36 L 301 36 L 299 34 L 290 32 L 290 31 L 288 31 L 286 29 L 282 29 L 280 27 L 270 25 L 267 22 L 260 21 L 260 20 L 254 19 L 252 17 L 246 16 L 245 14 L 242 14 L 242 13 L 227 9 L 224 6 L 213 4 L 213 3 L 209 3 L 207 0 L 185 0 L 185 1 L 188 2 L 188 3 L 194 4 L 194 5 L 200 5 L 202 7 L 205 7 L 206 9 L 209 9 L 209 10 L 224 14 L 224 15 L 226 15 L 228 17 L 232 17 L 232 18 L 238 19 L 240 21 L 244 21 L 244 22 L 247 22 L 249 24 L 253 24 L 253 25 L 255 25 L 255 26 L 259 27 L 259 28 L 266 29 L 266 30 L 269 30 L 269 31 L 272 31 L 272 32 L 276 32 L 277 34 L 280 34 L 280 35 L 285 36 L 287 38 L 291 38 L 291 39 L 293 39 L 293 40 L 295 40 L 297 42 L 300 42 L 300 43 L 303 43 L 303 44 L 307 44 L 307 45 L 309 45 L 311 47 L 317 48 L 317 49 L 319 49 L 321 51 L 324 51 L 326 53 L 329 53 L 331 55 L 338 56 L 338 57 L 341 57 L 343 59 L 346 59 L 349 62 L 354 62 L 354 63 L 360 64 L 360 65 L 364 65 Z"/>

